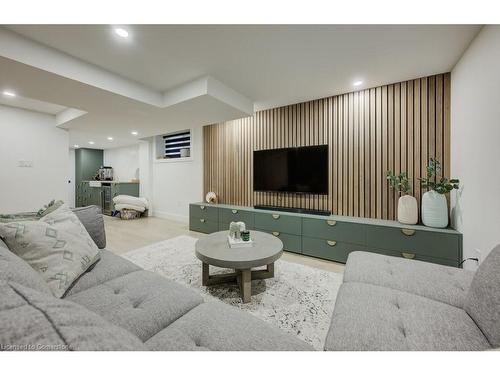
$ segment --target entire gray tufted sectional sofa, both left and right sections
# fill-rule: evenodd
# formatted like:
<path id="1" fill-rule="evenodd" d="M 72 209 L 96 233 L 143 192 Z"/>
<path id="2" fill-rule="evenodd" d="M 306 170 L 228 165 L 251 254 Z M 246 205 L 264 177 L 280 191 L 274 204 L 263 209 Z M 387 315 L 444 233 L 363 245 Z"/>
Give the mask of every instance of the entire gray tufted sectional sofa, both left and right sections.
<path id="1" fill-rule="evenodd" d="M 0 350 L 312 350 L 306 343 L 105 250 L 100 209 L 74 210 L 101 259 L 64 298 L 0 240 Z M 500 246 L 476 273 L 349 255 L 325 350 L 500 346 Z"/>

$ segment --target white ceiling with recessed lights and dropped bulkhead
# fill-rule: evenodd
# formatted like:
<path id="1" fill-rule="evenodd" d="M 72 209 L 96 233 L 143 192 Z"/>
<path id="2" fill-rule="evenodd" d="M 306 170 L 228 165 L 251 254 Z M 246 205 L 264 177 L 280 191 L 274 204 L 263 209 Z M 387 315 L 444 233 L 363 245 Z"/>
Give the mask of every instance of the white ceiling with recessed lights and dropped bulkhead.
<path id="1" fill-rule="evenodd" d="M 131 128 L 152 135 L 185 124 L 203 125 L 248 114 L 235 100 L 249 99 L 260 110 L 353 91 L 352 82 L 358 79 L 364 81 L 359 88 L 366 88 L 447 72 L 480 30 L 473 25 L 125 27 L 129 40 L 116 37 L 108 25 L 16 25 L 9 29 L 102 68 L 101 74 L 123 80 L 141 95 L 104 87 L 97 80 L 90 82 L 78 72 L 58 72 L 57 64 L 48 68 L 40 61 L 35 64 L 27 57 L 5 54 L 8 59 L 0 59 L 0 73 L 10 69 L 12 74 L 28 74 L 33 81 L 0 74 L 0 86 L 5 78 L 9 84 L 18 82 L 28 97 L 86 111 L 67 123 L 75 143 L 106 134 L 113 135 L 113 146 L 118 146 L 134 141 L 129 136 Z M 220 81 L 231 94 L 223 99 L 219 95 L 219 100 L 213 95 L 192 95 L 175 108 L 156 103 L 156 97 L 182 91 L 188 82 L 204 76 Z M 34 87 L 42 82 L 54 90 Z M 124 133 L 123 139 L 117 132 Z M 102 147 L 110 145 L 104 142 Z"/>

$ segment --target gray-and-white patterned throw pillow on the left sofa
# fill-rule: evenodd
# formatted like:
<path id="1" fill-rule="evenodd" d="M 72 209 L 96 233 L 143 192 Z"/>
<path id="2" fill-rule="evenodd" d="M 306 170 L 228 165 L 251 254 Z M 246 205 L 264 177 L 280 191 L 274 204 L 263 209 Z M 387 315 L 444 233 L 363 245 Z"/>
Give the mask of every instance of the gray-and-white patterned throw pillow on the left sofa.
<path id="1" fill-rule="evenodd" d="M 38 221 L 0 224 L 0 237 L 42 275 L 58 298 L 99 260 L 96 244 L 67 205 Z"/>

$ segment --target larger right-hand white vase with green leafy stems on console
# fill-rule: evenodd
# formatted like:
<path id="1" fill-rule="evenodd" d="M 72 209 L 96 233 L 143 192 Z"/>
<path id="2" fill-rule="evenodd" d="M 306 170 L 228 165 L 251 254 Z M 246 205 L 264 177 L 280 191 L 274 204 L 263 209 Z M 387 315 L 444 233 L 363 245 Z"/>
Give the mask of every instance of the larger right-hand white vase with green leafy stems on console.
<path id="1" fill-rule="evenodd" d="M 427 166 L 427 176 L 420 179 L 422 188 L 427 192 L 422 196 L 422 222 L 433 228 L 448 226 L 448 203 L 445 194 L 458 189 L 459 180 L 440 177 L 441 164 L 438 160 L 430 159 Z"/>

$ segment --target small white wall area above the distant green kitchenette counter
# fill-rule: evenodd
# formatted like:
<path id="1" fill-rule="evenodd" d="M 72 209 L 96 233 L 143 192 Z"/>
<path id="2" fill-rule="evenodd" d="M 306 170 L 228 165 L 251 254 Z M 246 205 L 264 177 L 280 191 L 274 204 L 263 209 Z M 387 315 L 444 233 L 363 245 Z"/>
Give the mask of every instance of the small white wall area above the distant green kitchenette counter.
<path id="1" fill-rule="evenodd" d="M 104 150 L 104 165 L 113 167 L 117 181 L 139 178 L 139 145 Z"/>

